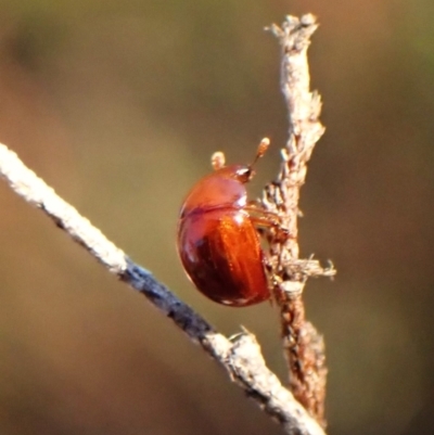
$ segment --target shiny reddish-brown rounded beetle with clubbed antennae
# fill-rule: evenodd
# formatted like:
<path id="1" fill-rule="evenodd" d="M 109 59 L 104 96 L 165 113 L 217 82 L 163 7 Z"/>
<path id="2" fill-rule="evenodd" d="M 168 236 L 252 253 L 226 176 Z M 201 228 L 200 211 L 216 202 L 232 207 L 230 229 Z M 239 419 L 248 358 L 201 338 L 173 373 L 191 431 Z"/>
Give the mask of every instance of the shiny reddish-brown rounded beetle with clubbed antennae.
<path id="1" fill-rule="evenodd" d="M 215 171 L 194 184 L 179 213 L 177 246 L 188 277 L 201 293 L 227 306 L 270 298 L 257 227 L 279 219 L 247 202 L 245 188 L 269 143 L 263 139 L 250 165 L 225 166 L 222 153 L 216 153 Z"/>

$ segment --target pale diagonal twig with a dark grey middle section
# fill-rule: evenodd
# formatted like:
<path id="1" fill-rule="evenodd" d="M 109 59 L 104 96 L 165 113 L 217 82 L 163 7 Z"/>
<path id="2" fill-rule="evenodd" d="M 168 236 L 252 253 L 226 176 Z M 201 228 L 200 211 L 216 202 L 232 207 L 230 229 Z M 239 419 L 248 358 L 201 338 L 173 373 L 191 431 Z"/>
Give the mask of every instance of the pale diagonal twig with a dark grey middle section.
<path id="1" fill-rule="evenodd" d="M 227 370 L 231 380 L 235 381 L 265 412 L 283 425 L 288 434 L 324 435 L 318 423 L 267 368 L 254 335 L 244 331 L 227 338 L 218 333 L 204 318 L 158 282 L 150 271 L 132 263 L 122 250 L 62 200 L 3 144 L 0 144 L 0 176 L 16 194 L 40 208 L 107 271 L 141 292 L 191 341 L 200 344 Z"/>

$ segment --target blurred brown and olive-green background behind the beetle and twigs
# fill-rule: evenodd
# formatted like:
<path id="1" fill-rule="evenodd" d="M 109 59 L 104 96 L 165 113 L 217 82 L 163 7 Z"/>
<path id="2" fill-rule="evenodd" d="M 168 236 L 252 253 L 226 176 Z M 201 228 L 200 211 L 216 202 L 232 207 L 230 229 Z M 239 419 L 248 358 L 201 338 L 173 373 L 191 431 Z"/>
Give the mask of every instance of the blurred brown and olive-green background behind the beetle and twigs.
<path id="1" fill-rule="evenodd" d="M 278 316 L 189 283 L 175 248 L 188 189 L 222 150 L 272 179 L 284 144 L 288 13 L 309 50 L 327 133 L 303 188 L 301 246 L 332 259 L 309 319 L 330 370 L 331 434 L 434 431 L 434 3 L 0 0 L 0 141 L 227 334 L 254 331 L 285 380 Z M 2 434 L 280 434 L 145 299 L 0 183 Z"/>

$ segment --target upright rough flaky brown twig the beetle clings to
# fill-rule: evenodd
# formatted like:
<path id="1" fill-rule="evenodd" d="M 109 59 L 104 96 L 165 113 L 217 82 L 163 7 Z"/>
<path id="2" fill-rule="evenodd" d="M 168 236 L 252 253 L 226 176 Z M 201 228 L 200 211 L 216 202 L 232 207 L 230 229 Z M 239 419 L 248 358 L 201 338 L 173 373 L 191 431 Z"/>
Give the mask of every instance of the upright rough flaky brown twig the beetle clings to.
<path id="1" fill-rule="evenodd" d="M 281 89 L 289 113 L 289 140 L 282 150 L 283 163 L 278 179 L 268 184 L 263 205 L 280 215 L 289 236 L 270 231 L 269 272 L 281 311 L 282 336 L 294 396 L 321 425 L 324 421 L 326 357 L 322 337 L 306 321 L 302 293 L 308 277 L 335 273 L 317 260 L 298 257 L 297 218 L 299 190 L 305 182 L 307 163 L 324 128 L 319 121 L 320 97 L 310 91 L 307 49 L 317 29 L 315 16 L 288 16 L 282 27 L 270 30 L 282 48 Z"/>

